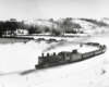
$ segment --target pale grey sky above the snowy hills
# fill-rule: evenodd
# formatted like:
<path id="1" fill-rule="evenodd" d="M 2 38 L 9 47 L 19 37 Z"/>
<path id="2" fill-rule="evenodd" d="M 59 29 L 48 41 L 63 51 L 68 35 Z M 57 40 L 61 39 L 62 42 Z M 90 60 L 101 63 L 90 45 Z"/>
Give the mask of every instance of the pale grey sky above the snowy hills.
<path id="1" fill-rule="evenodd" d="M 0 21 L 60 17 L 109 17 L 109 0 L 0 0 Z"/>

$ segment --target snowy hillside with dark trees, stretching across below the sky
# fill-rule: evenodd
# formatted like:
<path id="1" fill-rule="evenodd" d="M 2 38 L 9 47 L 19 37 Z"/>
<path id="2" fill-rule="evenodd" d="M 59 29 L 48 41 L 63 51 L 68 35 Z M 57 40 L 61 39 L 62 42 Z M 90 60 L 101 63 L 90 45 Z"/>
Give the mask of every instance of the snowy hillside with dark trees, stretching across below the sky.
<path id="1" fill-rule="evenodd" d="M 2 35 L 17 35 L 17 30 L 24 34 L 77 34 L 77 33 L 96 33 L 101 32 L 109 27 L 109 18 L 104 17 L 101 20 L 92 18 L 60 18 L 58 21 L 51 20 L 35 20 L 35 21 L 22 21 L 22 22 L 0 22 L 0 36 Z"/>

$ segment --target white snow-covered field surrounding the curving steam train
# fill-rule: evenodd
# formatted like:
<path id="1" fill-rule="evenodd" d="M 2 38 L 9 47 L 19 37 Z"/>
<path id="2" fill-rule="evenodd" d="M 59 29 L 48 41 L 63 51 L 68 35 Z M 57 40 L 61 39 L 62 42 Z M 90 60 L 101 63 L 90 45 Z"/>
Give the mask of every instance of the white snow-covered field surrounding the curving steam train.
<path id="1" fill-rule="evenodd" d="M 46 41 L 26 44 L 0 45 L 0 87 L 109 87 L 109 55 L 106 53 L 73 64 L 35 70 L 37 57 L 41 52 L 58 52 L 62 50 L 80 52 L 97 48 L 82 47 L 78 42 L 94 41 L 109 48 L 109 35 L 73 38 L 69 42 Z M 75 44 L 76 41 L 77 44 Z"/>

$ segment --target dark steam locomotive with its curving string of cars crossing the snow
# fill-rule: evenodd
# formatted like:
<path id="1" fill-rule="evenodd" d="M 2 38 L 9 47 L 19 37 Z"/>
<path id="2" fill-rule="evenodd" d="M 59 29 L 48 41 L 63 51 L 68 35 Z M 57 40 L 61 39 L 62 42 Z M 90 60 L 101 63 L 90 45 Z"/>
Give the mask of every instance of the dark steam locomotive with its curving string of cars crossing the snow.
<path id="1" fill-rule="evenodd" d="M 51 55 L 47 53 L 46 57 L 43 53 L 43 55 L 38 58 L 38 65 L 35 65 L 35 67 L 46 69 L 46 67 L 51 67 L 51 66 L 57 66 L 62 64 L 69 64 L 69 63 L 86 60 L 88 58 L 105 53 L 107 50 L 107 47 L 105 45 L 101 46 L 99 44 L 94 44 L 94 42 L 89 42 L 85 45 L 96 46 L 98 47 L 98 50 L 86 52 L 86 53 L 78 53 L 77 50 L 75 49 L 72 52 L 61 51 L 58 54 L 53 52 L 53 54 Z"/>

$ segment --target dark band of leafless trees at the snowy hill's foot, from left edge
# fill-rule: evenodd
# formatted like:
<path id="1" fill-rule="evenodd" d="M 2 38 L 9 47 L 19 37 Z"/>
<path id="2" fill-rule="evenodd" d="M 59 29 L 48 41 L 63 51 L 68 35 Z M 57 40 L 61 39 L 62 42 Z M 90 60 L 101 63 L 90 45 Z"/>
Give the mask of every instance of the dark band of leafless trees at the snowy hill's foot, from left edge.
<path id="1" fill-rule="evenodd" d="M 52 35 L 60 35 L 62 33 L 75 33 L 75 28 L 81 28 L 81 25 L 73 23 L 70 17 L 64 18 L 62 22 L 53 21 L 52 18 L 48 22 L 51 23 L 51 26 L 38 24 L 28 25 L 24 22 L 0 22 L 0 37 L 8 30 L 10 30 L 10 34 L 14 34 L 16 29 L 26 29 L 28 34 L 50 33 Z M 57 25 L 57 27 L 55 25 Z"/>

